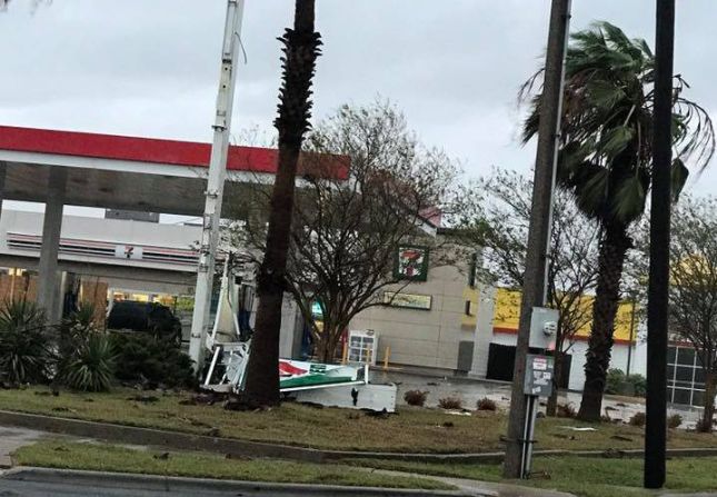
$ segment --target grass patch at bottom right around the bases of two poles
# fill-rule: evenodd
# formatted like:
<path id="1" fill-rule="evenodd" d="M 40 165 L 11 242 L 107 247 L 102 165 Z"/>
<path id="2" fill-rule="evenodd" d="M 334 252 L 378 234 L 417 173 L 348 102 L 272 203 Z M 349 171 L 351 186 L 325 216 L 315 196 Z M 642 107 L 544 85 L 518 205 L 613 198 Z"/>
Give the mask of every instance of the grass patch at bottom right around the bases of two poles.
<path id="1" fill-rule="evenodd" d="M 421 475 L 501 481 L 499 465 L 422 464 L 389 460 L 359 460 L 352 464 L 416 473 Z M 674 491 L 707 491 L 717 489 L 717 458 L 679 458 L 667 461 L 667 485 Z M 546 489 L 568 491 L 585 497 L 650 496 L 643 485 L 640 459 L 601 459 L 587 457 L 539 457 L 534 471 L 545 471 L 544 478 L 507 481 Z M 549 478 L 548 478 L 549 476 Z"/>

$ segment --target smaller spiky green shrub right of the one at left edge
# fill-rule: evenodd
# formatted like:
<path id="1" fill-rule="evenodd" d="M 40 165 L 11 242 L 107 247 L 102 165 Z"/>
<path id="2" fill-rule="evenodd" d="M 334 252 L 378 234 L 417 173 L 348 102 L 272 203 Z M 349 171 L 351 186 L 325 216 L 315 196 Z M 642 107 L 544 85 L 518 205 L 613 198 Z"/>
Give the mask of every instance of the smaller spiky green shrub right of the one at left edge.
<path id="1" fill-rule="evenodd" d="M 107 391 L 112 385 L 114 352 L 106 334 L 89 335 L 64 362 L 61 381 L 83 391 Z"/>

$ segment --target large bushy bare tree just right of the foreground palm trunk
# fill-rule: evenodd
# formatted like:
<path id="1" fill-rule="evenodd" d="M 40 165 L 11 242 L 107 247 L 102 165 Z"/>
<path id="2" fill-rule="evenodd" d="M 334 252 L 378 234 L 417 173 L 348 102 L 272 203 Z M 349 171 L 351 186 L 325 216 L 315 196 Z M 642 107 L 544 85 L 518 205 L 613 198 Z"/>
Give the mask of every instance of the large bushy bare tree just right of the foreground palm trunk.
<path id="1" fill-rule="evenodd" d="M 286 290 L 311 325 L 319 359 L 330 361 L 357 314 L 386 304 L 384 290 L 391 290 L 390 301 L 411 281 L 396 271 L 401 248 L 417 246 L 417 258 L 431 266 L 462 257 L 460 246 L 434 236 L 429 220 L 455 198 L 458 168 L 441 151 L 424 148 L 404 115 L 382 101 L 341 107 L 311 132 L 305 149 L 302 165 L 312 173 L 303 175 L 295 199 Z M 350 159 L 348 180 L 329 169 L 332 153 Z M 240 207 L 248 215 L 235 235 L 261 254 L 266 223 L 251 212 L 261 211 L 266 195 L 255 191 Z M 320 325 L 313 304 L 321 308 Z"/>

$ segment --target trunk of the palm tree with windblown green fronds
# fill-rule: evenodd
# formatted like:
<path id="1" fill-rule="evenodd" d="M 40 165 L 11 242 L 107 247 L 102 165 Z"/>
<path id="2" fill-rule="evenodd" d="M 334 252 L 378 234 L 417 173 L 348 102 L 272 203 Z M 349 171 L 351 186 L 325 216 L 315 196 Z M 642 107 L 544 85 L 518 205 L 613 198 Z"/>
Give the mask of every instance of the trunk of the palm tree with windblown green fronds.
<path id="1" fill-rule="evenodd" d="M 625 255 L 631 240 L 627 227 L 619 222 L 605 226 L 598 257 L 598 281 L 592 304 L 592 329 L 585 355 L 585 387 L 578 419 L 599 421 L 605 378 L 610 365 L 615 315 L 620 298 L 620 278 Z"/>

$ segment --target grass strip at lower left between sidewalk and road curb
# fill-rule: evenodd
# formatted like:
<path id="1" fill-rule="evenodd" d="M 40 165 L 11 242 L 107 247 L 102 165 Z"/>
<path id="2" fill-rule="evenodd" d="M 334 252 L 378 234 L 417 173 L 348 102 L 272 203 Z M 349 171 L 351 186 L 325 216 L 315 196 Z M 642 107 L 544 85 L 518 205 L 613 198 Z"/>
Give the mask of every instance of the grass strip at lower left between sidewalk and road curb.
<path id="1" fill-rule="evenodd" d="M 132 449 L 104 444 L 46 440 L 18 449 L 13 457 L 23 466 L 98 471 L 140 473 L 162 476 L 237 479 L 293 484 L 347 485 L 388 488 L 451 490 L 455 487 L 428 478 L 388 476 L 348 466 L 316 465 L 276 459 L 226 459 L 221 456 Z"/>

